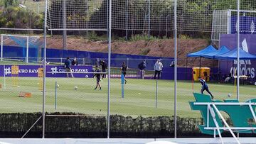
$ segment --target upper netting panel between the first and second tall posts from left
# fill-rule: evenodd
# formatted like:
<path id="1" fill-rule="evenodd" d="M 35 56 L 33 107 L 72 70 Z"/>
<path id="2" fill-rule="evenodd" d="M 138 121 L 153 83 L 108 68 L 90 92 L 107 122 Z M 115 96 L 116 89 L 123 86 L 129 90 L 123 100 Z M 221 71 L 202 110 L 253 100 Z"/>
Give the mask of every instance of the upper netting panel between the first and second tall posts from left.
<path id="1" fill-rule="evenodd" d="M 49 0 L 47 26 L 53 30 L 106 29 L 107 1 Z"/>

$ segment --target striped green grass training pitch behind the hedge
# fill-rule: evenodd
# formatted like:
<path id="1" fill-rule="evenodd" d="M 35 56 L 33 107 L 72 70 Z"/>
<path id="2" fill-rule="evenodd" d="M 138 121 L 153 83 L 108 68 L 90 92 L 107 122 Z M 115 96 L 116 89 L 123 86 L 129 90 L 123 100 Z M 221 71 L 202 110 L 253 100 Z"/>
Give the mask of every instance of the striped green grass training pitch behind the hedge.
<path id="1" fill-rule="evenodd" d="M 127 79 L 124 99 L 121 96 L 120 79 L 111 79 L 110 113 L 124 116 L 173 116 L 174 81 L 159 80 L 156 106 L 156 80 Z M 1 77 L 1 113 L 42 111 L 42 92 L 38 90 L 38 77 L 18 77 L 19 87 L 13 87 L 11 77 Z M 58 82 L 57 109 L 55 109 L 55 82 Z M 102 90 L 94 90 L 95 79 L 90 78 L 47 78 L 46 111 L 76 112 L 92 115 L 107 115 L 107 79 L 101 82 Z M 215 99 L 235 99 L 235 87 L 231 84 L 208 84 Z M 74 89 L 78 87 L 78 89 Z M 188 101 L 194 101 L 193 92 L 200 92 L 201 84 L 178 81 L 177 113 L 181 117 L 199 117 L 198 111 L 191 111 Z M 31 92 L 31 98 L 18 97 L 19 92 Z M 228 98 L 228 94 L 232 94 Z M 255 86 L 240 86 L 240 101 L 255 98 Z M 207 93 L 206 93 L 207 94 Z"/>

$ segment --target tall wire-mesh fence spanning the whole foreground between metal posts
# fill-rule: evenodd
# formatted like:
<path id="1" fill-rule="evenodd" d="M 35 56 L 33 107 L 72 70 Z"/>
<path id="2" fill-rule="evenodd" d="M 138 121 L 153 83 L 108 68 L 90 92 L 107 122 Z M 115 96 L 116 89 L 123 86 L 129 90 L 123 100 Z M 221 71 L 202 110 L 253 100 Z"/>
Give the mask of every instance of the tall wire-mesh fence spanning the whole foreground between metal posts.
<path id="1" fill-rule="evenodd" d="M 29 124 L 32 125 L 37 118 L 41 118 L 44 43 L 42 30 L 43 14 L 46 11 L 44 1 L 13 2 L 0 1 L 0 27 L 1 33 L 5 34 L 1 38 L 3 48 L 0 65 L 0 112 L 36 113 L 37 117 L 31 116 L 31 119 L 23 114 L 17 114 L 14 118 L 11 114 L 2 115 L 1 121 L 5 122 L 10 117 L 22 118 L 22 121 L 18 119 L 5 125 L 9 129 L 17 126 L 17 131 L 24 133 Z M 51 132 L 58 135 L 68 131 L 82 131 L 87 133 L 81 135 L 82 138 L 90 137 L 92 135 L 88 133 L 94 132 L 105 138 L 107 102 L 110 96 L 112 135 L 125 137 L 126 135 L 117 134 L 121 131 L 125 134 L 133 133 L 131 137 L 136 138 L 146 137 L 146 134 L 138 133 L 151 133 L 151 138 L 161 135 L 171 137 L 174 134 L 174 40 L 169 38 L 173 38 L 174 33 L 174 1 L 112 1 L 111 52 L 128 53 L 132 56 L 117 55 L 112 57 L 110 65 L 102 65 L 102 60 L 108 61 L 107 52 L 110 46 L 107 43 L 107 31 L 110 30 L 108 4 L 109 1 L 104 0 L 48 1 L 45 105 L 47 136 L 50 138 Z M 210 72 L 203 74 L 203 77 L 206 77 L 214 99 L 230 99 L 228 96 L 236 98 L 237 79 L 233 77 L 235 61 L 186 57 L 189 52 L 206 48 L 213 41 L 217 42 L 215 45 L 235 48 L 235 37 L 222 44 L 220 34 L 236 34 L 237 11 L 233 10 L 236 8 L 235 1 L 229 0 L 178 1 L 177 30 L 180 39 L 177 60 L 177 113 L 180 117 L 180 137 L 185 137 L 187 133 L 199 133 L 197 124 L 202 123 L 199 119 L 200 113 L 191 111 L 188 103 L 194 101 L 193 92 L 201 92 L 198 76 L 202 75 L 194 76 L 196 73 L 192 67 L 210 67 Z M 253 34 L 256 22 L 255 1 L 241 1 L 240 9 L 240 33 Z M 248 43 L 249 39 L 248 37 Z M 246 40 L 242 43 L 243 50 L 250 52 L 254 44 L 247 43 L 245 47 L 245 43 Z M 97 52 L 98 56 L 93 57 L 90 53 L 92 51 Z M 142 58 L 142 55 L 148 57 Z M 66 73 L 66 57 L 71 60 L 77 57 L 78 66 L 71 66 L 72 74 Z M 159 73 L 155 71 L 157 60 L 163 64 Z M 127 70 L 122 70 L 123 62 Z M 142 68 L 142 62 L 146 63 L 145 69 Z M 252 85 L 255 84 L 255 62 L 242 62 L 240 69 L 246 78 L 240 82 L 240 101 L 246 101 L 255 96 L 255 86 Z M 107 73 L 109 69 L 110 77 Z M 126 71 L 125 76 L 122 71 Z M 108 78 L 111 78 L 110 83 Z M 28 124 L 24 119 L 33 122 Z M 26 128 L 22 127 L 23 123 L 26 123 Z M 32 130 L 41 133 L 41 128 L 39 121 Z M 41 137 L 38 133 L 36 137 Z M 198 136 L 200 135 L 199 133 Z"/>

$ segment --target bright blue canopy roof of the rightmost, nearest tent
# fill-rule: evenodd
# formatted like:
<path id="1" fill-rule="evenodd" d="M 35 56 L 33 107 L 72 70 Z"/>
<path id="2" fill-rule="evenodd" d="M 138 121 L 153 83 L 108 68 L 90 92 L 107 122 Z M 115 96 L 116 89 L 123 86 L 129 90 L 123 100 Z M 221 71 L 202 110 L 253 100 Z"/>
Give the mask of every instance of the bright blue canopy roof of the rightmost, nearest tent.
<path id="1" fill-rule="evenodd" d="M 239 49 L 240 54 L 240 60 L 256 60 L 256 56 L 250 54 L 249 52 L 245 52 L 245 50 Z M 230 52 L 227 52 L 223 55 L 216 55 L 216 59 L 221 60 L 236 60 L 238 57 L 238 49 L 235 48 L 234 50 L 231 50 Z"/>

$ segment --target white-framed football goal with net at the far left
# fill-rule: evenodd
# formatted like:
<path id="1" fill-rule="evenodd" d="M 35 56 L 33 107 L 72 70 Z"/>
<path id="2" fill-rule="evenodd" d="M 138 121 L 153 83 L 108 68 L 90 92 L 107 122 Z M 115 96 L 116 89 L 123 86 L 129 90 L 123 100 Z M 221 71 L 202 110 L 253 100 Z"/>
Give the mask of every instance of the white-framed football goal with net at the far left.
<path id="1" fill-rule="evenodd" d="M 32 53 L 34 57 L 31 58 L 36 58 L 36 61 L 38 61 L 38 57 L 41 57 L 39 38 L 39 36 L 1 34 L 1 61 L 4 59 L 24 60 L 26 63 L 28 63 L 30 58 L 30 48 L 35 48 L 34 53 Z M 13 50 L 11 55 L 7 53 L 8 48 L 23 48 L 23 52 L 20 53 L 19 51 Z"/>

